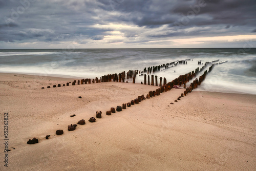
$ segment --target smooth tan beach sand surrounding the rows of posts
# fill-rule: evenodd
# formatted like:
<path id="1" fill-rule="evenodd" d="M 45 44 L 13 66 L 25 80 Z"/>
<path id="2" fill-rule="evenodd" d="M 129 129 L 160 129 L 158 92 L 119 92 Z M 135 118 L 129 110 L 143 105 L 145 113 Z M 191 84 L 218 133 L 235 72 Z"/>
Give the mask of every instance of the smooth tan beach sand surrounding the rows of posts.
<path id="1" fill-rule="evenodd" d="M 157 87 L 131 82 L 62 87 L 73 80 L 0 74 L 0 125 L 4 130 L 8 112 L 11 149 L 7 168 L 2 132 L 0 170 L 256 168 L 256 95 L 193 91 L 174 102 L 184 90 L 172 89 L 107 116 L 112 106 Z M 52 88 L 58 83 L 60 88 Z M 96 111 L 102 118 L 89 122 Z M 68 132 L 68 125 L 81 119 L 86 124 Z M 39 143 L 27 144 L 34 137 Z"/>

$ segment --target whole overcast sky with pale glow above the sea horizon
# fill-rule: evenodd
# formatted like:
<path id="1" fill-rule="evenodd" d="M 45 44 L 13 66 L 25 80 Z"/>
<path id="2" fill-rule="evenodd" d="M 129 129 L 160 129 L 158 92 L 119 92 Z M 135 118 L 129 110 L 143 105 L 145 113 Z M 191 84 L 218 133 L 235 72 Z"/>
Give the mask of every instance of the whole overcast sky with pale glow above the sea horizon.
<path id="1" fill-rule="evenodd" d="M 255 46 L 256 0 L 0 0 L 0 49 Z"/>

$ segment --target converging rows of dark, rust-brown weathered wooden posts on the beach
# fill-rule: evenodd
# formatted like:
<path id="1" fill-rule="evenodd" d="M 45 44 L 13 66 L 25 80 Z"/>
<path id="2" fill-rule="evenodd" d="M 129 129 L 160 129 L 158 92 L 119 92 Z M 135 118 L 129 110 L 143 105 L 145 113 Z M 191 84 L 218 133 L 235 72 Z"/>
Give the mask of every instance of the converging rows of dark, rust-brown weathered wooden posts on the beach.
<path id="1" fill-rule="evenodd" d="M 217 61 L 219 61 L 219 60 L 217 60 Z M 216 62 L 216 61 L 215 61 L 215 62 Z M 227 62 L 227 61 L 225 61 L 225 62 Z M 203 67 L 200 69 L 200 71 L 199 71 L 199 68 L 197 68 L 197 69 L 195 70 L 195 72 L 192 71 L 192 72 L 189 72 L 189 73 L 187 73 L 187 74 L 180 75 L 178 78 L 175 78 L 173 81 L 168 82 L 168 83 L 166 83 L 166 79 L 164 78 L 163 86 L 162 86 L 162 77 L 160 77 L 160 85 L 159 85 L 160 88 L 156 89 L 155 91 L 149 91 L 148 94 L 146 95 L 146 98 L 151 98 L 151 97 L 158 96 L 158 95 L 160 95 L 161 93 L 166 92 L 166 91 L 172 89 L 172 88 L 173 88 L 174 86 L 176 86 L 176 85 L 181 86 L 181 84 L 184 84 L 184 88 L 185 88 L 186 90 L 184 91 L 184 93 L 181 93 L 181 96 L 179 96 L 179 97 L 177 98 L 177 100 L 180 100 L 181 97 L 186 96 L 186 95 L 187 95 L 188 93 L 190 93 L 192 90 L 198 88 L 198 86 L 200 86 L 200 84 L 205 80 L 206 75 L 207 75 L 208 73 L 210 73 L 210 72 L 212 71 L 212 69 L 214 69 L 215 65 L 220 65 L 220 64 L 225 63 L 225 62 L 219 62 L 219 63 L 213 63 L 213 64 L 212 64 L 212 62 L 206 62 L 206 63 L 205 63 L 205 66 L 203 66 Z M 189 88 L 186 88 L 186 82 L 189 81 L 190 79 L 193 79 L 195 76 L 197 76 L 197 74 L 199 74 L 200 72 L 202 72 L 202 71 L 204 70 L 204 67 L 208 66 L 209 64 L 211 64 L 211 66 L 209 67 L 208 72 L 207 72 L 207 70 L 204 71 L 204 73 L 199 77 L 199 79 L 196 78 L 193 82 L 190 83 Z M 201 65 L 201 64 L 200 64 L 200 65 Z M 124 75 L 124 76 L 123 76 L 123 75 Z M 101 80 L 102 80 L 102 81 L 103 81 L 103 80 L 104 80 L 104 81 L 105 81 L 105 80 L 110 80 L 110 81 L 111 81 L 112 78 L 114 78 L 114 81 L 117 80 L 117 78 L 119 78 L 119 79 L 118 79 L 119 82 L 121 82 L 121 81 L 120 81 L 121 79 L 122 79 L 123 82 L 124 82 L 124 79 L 123 79 L 124 77 L 125 77 L 125 72 L 122 72 L 122 73 L 119 74 L 119 77 L 117 77 L 117 74 L 111 75 L 111 76 L 110 76 L 110 75 L 104 76 L 103 78 L 101 77 L 99 80 L 98 80 L 98 78 L 96 77 L 96 79 L 95 79 L 95 80 L 93 79 L 92 82 L 95 83 L 95 81 L 96 81 L 96 83 L 98 83 L 98 82 L 101 82 Z M 128 74 L 127 74 L 127 77 L 128 77 Z M 136 77 L 136 74 L 135 74 L 135 73 L 129 71 L 129 77 L 133 77 L 133 78 L 134 78 L 134 82 L 135 82 L 135 77 Z M 155 78 L 156 78 L 156 86 L 158 86 L 158 83 L 157 83 L 157 76 L 155 76 Z M 87 82 L 90 84 L 90 83 L 91 83 L 91 79 L 81 79 L 81 81 L 78 80 L 78 81 L 77 81 L 77 84 L 79 85 L 80 82 L 81 82 L 81 84 L 87 84 Z M 107 81 L 105 81 L 105 82 L 107 82 Z M 70 82 L 67 82 L 67 86 L 69 86 L 69 83 L 70 83 Z M 149 84 L 149 83 L 150 83 L 150 76 L 148 75 L 148 84 Z M 72 85 L 75 85 L 75 84 L 76 84 L 76 80 L 74 80 L 74 81 L 72 82 Z M 146 84 L 146 74 L 144 74 L 144 84 Z M 154 86 L 154 75 L 152 75 L 152 82 L 151 82 L 151 85 Z M 63 86 L 65 86 L 65 84 L 63 84 Z M 56 87 L 56 85 L 54 85 L 53 87 Z M 58 84 L 58 87 L 61 87 L 60 84 Z M 50 86 L 48 86 L 48 88 L 50 88 Z M 130 107 L 131 105 L 134 105 L 134 104 L 139 104 L 139 102 L 141 102 L 142 100 L 145 100 L 146 98 L 144 97 L 144 95 L 141 95 L 141 96 L 138 96 L 137 98 L 135 98 L 134 100 L 131 100 L 131 102 L 123 103 L 123 104 L 122 104 L 122 107 L 121 107 L 121 106 L 117 106 L 116 110 L 115 110 L 115 108 L 112 107 L 110 111 L 106 111 L 106 115 L 111 115 L 111 113 L 115 113 L 116 111 L 117 111 L 117 112 L 120 112 L 120 111 L 122 111 L 122 109 L 126 109 L 126 104 L 127 104 L 127 107 Z M 178 102 L 177 100 L 175 100 L 175 102 Z M 97 111 L 97 112 L 96 112 L 96 118 L 101 118 L 101 114 L 102 114 L 101 111 L 100 111 L 100 112 Z M 95 119 L 94 117 L 91 117 L 91 118 L 89 119 L 89 121 L 90 121 L 90 122 L 95 122 L 96 119 Z M 83 124 L 86 124 L 86 122 L 82 119 L 82 120 L 78 121 L 77 124 L 83 125 Z M 74 130 L 76 129 L 77 124 L 68 125 L 68 131 L 74 131 Z M 57 131 L 56 131 L 56 135 L 61 135 L 61 134 L 63 134 L 63 130 L 57 130 Z M 50 137 L 50 135 L 47 135 L 47 136 L 46 136 L 46 139 L 49 139 L 49 137 Z M 34 142 L 33 140 L 34 140 L 35 142 Z M 38 140 L 37 140 L 36 138 L 33 138 L 33 140 L 29 140 L 27 143 L 28 143 L 28 144 L 38 143 Z M 33 142 L 31 142 L 31 141 L 33 141 Z"/>

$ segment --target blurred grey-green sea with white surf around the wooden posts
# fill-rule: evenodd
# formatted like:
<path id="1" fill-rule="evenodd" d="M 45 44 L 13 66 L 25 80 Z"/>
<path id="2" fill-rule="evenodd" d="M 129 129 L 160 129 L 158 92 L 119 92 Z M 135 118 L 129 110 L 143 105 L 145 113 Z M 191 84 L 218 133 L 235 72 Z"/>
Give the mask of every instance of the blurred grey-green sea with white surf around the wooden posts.
<path id="1" fill-rule="evenodd" d="M 187 60 L 186 60 L 187 59 Z M 0 50 L 0 72 L 65 78 L 95 78 L 102 75 L 143 71 L 186 60 L 187 65 L 169 66 L 154 73 L 168 81 L 201 68 L 201 63 L 227 61 L 207 75 L 198 91 L 256 94 L 256 48 L 196 49 L 8 49 Z M 136 77 L 136 83 L 143 82 Z M 132 82 L 132 80 L 128 80 Z"/>

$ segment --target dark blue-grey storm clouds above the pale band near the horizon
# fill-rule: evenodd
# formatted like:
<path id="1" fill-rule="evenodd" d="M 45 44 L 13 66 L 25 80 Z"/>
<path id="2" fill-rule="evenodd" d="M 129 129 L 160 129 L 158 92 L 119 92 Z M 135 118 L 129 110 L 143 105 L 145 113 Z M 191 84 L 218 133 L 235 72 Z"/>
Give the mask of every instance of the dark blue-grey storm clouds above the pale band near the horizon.
<path id="1" fill-rule="evenodd" d="M 123 42 L 129 44 L 167 37 L 249 34 L 255 33 L 256 26 L 256 2 L 249 0 L 0 0 L 0 9 L 0 42 L 57 43 L 75 37 L 98 41 L 118 30 L 101 27 L 110 23 L 147 29 L 144 33 L 120 28 L 129 38 Z M 132 41 L 138 36 L 142 38 Z M 120 40 L 107 42 L 115 41 Z"/>

